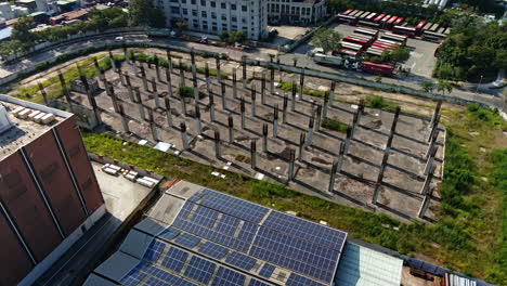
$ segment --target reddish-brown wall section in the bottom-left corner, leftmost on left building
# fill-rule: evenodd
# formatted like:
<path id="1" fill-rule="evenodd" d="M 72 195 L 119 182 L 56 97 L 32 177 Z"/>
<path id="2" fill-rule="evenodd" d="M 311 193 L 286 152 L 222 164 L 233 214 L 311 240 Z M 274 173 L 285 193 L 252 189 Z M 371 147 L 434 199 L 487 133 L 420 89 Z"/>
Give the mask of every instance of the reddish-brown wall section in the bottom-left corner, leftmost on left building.
<path id="1" fill-rule="evenodd" d="M 1 213 L 0 234 L 0 285 L 16 285 L 30 272 L 31 260 Z"/>

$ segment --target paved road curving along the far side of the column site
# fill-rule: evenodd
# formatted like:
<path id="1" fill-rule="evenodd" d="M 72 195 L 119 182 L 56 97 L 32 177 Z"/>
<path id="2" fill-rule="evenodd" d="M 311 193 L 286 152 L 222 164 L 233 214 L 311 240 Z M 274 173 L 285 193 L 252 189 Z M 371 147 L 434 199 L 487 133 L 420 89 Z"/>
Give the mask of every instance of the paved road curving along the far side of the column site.
<path id="1" fill-rule="evenodd" d="M 62 47 L 58 47 L 49 51 L 44 51 L 42 53 L 30 56 L 29 58 L 26 58 L 20 63 L 9 65 L 9 66 L 2 66 L 0 68 L 0 77 L 4 77 L 5 75 L 10 73 L 22 70 L 30 65 L 35 65 L 37 63 L 47 61 L 49 58 L 58 56 L 61 54 L 74 52 L 74 51 L 88 48 L 88 47 L 93 47 L 96 44 L 102 44 L 104 41 L 113 42 L 117 36 L 118 35 L 104 36 L 104 37 L 94 38 L 94 39 L 90 39 L 90 40 L 82 41 L 82 42 L 62 46 Z M 235 60 L 239 60 L 242 55 L 246 55 L 250 58 L 269 61 L 270 58 L 269 54 L 277 53 L 274 50 L 262 49 L 262 48 L 256 48 L 249 51 L 242 52 L 242 51 L 236 51 L 236 50 L 231 50 L 231 49 L 225 50 L 223 48 L 213 47 L 213 46 L 182 41 L 178 39 L 151 39 L 144 35 L 122 35 L 122 36 L 127 42 L 135 41 L 135 42 L 166 43 L 166 44 L 172 44 L 172 46 L 178 46 L 178 47 L 194 48 L 197 50 L 205 50 L 205 51 L 210 51 L 210 52 L 218 52 L 218 53 L 225 52 L 230 57 L 235 58 Z M 368 74 L 364 74 L 364 73 L 360 73 L 355 70 L 347 70 L 347 69 L 339 69 L 339 68 L 329 67 L 329 66 L 317 65 L 313 62 L 312 58 L 307 56 L 307 52 L 312 49 L 313 47 L 309 43 L 302 44 L 298 49 L 296 49 L 294 53 L 281 54 L 280 55 L 281 63 L 286 64 L 286 65 L 292 65 L 294 58 L 297 58 L 298 60 L 297 65 L 299 67 L 318 69 L 318 70 L 328 72 L 328 73 L 330 72 L 330 73 L 336 73 L 336 74 L 340 74 L 344 76 L 363 77 L 369 80 L 375 80 L 377 78 L 377 76 L 368 75 Z M 385 83 L 404 86 L 404 87 L 420 90 L 420 82 L 424 80 L 429 80 L 429 79 L 422 76 L 418 76 L 418 75 L 411 75 L 404 78 L 384 77 L 381 80 Z M 505 109 L 504 101 L 502 100 L 502 89 L 479 91 L 479 93 L 474 93 L 474 89 L 471 89 L 471 90 L 454 89 L 451 92 L 451 95 L 466 99 L 466 100 L 482 102 L 489 105 L 504 106 L 504 109 Z"/>

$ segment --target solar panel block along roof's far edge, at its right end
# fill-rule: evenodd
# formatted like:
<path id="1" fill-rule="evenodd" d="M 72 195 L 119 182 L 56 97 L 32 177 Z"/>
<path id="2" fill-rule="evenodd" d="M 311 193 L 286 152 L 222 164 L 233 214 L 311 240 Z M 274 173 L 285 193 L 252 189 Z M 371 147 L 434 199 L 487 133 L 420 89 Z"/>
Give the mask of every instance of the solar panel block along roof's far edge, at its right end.
<path id="1" fill-rule="evenodd" d="M 262 226 L 301 237 L 335 250 L 341 250 L 347 234 L 299 218 L 272 211 Z"/>

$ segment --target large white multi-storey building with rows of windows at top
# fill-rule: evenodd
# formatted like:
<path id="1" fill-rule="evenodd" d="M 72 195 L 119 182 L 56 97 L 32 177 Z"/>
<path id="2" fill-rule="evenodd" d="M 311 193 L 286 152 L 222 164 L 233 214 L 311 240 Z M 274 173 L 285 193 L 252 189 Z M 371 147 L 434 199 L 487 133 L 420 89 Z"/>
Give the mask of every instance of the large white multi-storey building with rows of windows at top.
<path id="1" fill-rule="evenodd" d="M 154 0 L 167 25 L 186 22 L 190 30 L 220 34 L 243 30 L 249 39 L 268 36 L 268 0 Z"/>

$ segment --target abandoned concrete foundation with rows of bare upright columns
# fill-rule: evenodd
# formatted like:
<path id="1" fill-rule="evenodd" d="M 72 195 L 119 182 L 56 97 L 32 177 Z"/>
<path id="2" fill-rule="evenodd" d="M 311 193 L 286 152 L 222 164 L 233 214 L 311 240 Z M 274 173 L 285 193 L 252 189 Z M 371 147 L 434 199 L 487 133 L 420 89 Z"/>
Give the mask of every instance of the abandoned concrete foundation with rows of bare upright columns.
<path id="1" fill-rule="evenodd" d="M 446 135 L 441 102 L 426 117 L 344 102 L 340 82 L 303 69 L 158 50 L 169 63 L 162 66 L 126 49 L 114 53 L 126 61 L 92 79 L 66 84 L 60 74 L 65 105 L 101 130 L 402 221 L 435 220 Z"/>

